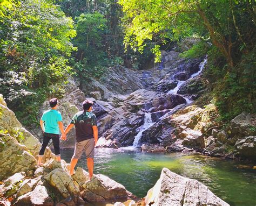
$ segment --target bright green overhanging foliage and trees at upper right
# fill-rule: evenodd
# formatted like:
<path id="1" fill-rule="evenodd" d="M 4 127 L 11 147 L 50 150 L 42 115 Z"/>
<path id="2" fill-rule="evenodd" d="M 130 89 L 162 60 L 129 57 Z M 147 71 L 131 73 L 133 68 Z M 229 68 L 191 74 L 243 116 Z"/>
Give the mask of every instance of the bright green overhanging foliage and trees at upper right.
<path id="1" fill-rule="evenodd" d="M 143 52 L 147 40 L 161 60 L 160 46 L 185 37 L 201 39 L 186 52 L 208 54 L 208 78 L 221 118 L 255 112 L 255 1 L 119 0 L 123 6 L 125 45 Z M 206 49 L 205 49 L 206 48 Z"/>

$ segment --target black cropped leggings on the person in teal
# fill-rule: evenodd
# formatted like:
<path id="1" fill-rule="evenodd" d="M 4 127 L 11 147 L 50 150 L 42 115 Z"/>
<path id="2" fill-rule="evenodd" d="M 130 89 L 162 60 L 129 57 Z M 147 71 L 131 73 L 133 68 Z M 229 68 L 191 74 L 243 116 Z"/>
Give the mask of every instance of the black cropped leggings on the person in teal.
<path id="1" fill-rule="evenodd" d="M 43 135 L 43 145 L 41 147 L 41 150 L 39 151 L 39 156 L 44 155 L 45 148 L 49 144 L 50 139 L 52 139 L 53 147 L 54 147 L 54 153 L 56 156 L 60 156 L 59 152 L 59 134 L 51 134 L 51 133 L 44 133 Z"/>

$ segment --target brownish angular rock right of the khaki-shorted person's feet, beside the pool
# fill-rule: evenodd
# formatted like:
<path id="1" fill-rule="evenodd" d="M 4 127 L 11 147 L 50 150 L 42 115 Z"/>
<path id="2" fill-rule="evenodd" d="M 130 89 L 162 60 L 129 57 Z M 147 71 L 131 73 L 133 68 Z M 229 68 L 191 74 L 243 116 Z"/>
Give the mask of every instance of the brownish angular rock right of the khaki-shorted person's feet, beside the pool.
<path id="1" fill-rule="evenodd" d="M 122 184 L 111 180 L 105 175 L 96 175 L 95 179 L 87 182 L 82 195 L 87 201 L 118 200 L 119 198 L 134 198 Z"/>

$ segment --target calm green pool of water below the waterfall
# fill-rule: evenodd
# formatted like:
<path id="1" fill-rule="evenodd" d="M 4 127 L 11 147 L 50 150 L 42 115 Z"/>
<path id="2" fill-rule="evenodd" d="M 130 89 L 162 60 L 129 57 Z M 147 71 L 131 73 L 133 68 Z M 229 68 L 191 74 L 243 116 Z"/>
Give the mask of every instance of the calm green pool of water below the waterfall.
<path id="1" fill-rule="evenodd" d="M 65 149 L 61 153 L 62 159 L 70 162 L 73 150 Z M 87 170 L 85 155 L 78 166 Z M 109 148 L 97 148 L 95 152 L 94 173 L 109 176 L 139 197 L 146 196 L 163 167 L 204 183 L 231 205 L 256 205 L 256 169 L 253 165 L 198 154 L 151 154 Z"/>

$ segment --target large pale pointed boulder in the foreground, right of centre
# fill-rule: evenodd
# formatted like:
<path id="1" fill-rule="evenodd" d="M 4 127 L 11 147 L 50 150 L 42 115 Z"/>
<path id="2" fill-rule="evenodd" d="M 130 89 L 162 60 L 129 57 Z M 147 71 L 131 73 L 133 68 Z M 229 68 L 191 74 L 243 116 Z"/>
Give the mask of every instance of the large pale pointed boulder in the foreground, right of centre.
<path id="1" fill-rule="evenodd" d="M 163 168 L 160 179 L 147 192 L 146 205 L 229 205 L 204 184 Z"/>

